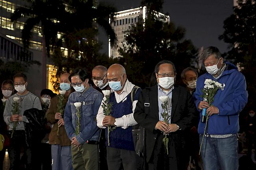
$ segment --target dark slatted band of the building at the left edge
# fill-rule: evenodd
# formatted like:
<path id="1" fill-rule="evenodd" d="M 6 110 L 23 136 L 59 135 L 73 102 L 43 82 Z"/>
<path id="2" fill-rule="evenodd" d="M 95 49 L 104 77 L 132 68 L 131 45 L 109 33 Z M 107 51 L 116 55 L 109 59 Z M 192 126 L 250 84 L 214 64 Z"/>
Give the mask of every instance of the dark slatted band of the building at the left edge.
<path id="1" fill-rule="evenodd" d="M 24 50 L 24 48 L 6 38 L 0 37 L 0 57 L 11 60 L 31 61 L 33 60 L 33 53 Z"/>

